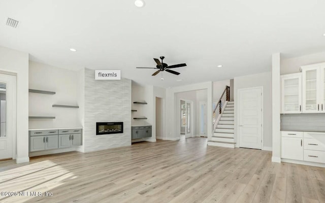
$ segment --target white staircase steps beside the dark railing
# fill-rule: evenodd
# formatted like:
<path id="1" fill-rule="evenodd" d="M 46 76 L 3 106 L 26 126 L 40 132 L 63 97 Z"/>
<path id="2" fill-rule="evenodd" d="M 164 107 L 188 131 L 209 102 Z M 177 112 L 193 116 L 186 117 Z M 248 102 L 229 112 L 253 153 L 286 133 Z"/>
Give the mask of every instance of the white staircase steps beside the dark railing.
<path id="1" fill-rule="evenodd" d="M 221 114 L 208 145 L 235 148 L 234 139 L 234 101 L 229 101 Z"/>

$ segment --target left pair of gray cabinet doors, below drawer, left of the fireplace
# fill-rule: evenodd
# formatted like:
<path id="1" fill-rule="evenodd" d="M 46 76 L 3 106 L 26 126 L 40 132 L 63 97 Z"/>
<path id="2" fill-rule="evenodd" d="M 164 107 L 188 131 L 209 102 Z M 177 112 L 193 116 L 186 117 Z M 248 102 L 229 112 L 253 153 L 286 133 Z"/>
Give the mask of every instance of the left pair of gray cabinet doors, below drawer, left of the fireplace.
<path id="1" fill-rule="evenodd" d="M 47 149 L 57 149 L 58 135 L 31 136 L 30 151 L 41 151 Z"/>

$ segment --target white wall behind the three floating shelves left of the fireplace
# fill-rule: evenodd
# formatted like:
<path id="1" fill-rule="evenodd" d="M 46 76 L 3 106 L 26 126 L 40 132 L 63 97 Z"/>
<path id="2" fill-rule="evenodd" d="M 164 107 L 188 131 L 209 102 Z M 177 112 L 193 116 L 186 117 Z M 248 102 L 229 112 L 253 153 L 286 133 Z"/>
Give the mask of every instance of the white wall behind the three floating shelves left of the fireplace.
<path id="1" fill-rule="evenodd" d="M 79 109 L 52 107 L 53 104 L 79 106 L 76 71 L 29 61 L 29 89 L 55 92 L 55 95 L 29 93 L 30 116 L 55 119 L 29 119 L 29 129 L 82 128 Z"/>

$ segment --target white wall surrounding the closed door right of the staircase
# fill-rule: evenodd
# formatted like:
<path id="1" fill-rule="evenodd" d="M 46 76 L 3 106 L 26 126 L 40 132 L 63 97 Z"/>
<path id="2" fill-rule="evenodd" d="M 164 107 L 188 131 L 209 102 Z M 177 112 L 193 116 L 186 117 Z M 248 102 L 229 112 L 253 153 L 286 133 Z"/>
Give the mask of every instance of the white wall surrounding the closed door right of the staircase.
<path id="1" fill-rule="evenodd" d="M 272 83 L 271 72 L 257 73 L 234 78 L 235 101 L 235 140 L 238 143 L 238 90 L 253 87 L 263 87 L 264 101 L 264 146 L 263 149 L 272 149 Z"/>

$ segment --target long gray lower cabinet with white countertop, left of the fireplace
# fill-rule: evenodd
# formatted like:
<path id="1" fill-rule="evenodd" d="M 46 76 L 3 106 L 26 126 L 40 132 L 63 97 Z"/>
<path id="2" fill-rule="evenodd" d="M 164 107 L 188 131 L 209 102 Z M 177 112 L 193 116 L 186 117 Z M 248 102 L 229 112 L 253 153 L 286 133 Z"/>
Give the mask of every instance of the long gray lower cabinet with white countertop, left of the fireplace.
<path id="1" fill-rule="evenodd" d="M 80 146 L 81 130 L 82 129 L 29 131 L 29 151 Z"/>

